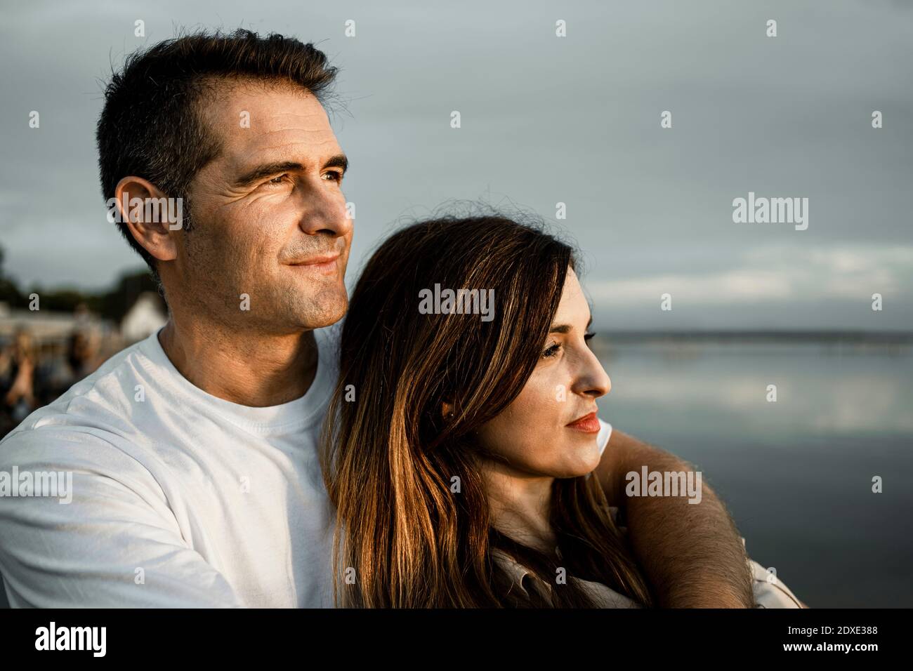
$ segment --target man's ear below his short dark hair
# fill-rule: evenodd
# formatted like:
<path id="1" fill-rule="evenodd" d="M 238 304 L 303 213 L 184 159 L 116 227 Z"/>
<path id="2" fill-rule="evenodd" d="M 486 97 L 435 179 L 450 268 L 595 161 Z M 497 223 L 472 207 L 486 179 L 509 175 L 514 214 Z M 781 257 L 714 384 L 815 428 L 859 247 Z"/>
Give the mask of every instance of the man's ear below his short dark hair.
<path id="1" fill-rule="evenodd" d="M 110 214 L 119 217 L 136 240 L 160 261 L 177 258 L 176 232 L 184 227 L 181 198 L 169 198 L 152 182 L 131 175 L 114 189 Z"/>

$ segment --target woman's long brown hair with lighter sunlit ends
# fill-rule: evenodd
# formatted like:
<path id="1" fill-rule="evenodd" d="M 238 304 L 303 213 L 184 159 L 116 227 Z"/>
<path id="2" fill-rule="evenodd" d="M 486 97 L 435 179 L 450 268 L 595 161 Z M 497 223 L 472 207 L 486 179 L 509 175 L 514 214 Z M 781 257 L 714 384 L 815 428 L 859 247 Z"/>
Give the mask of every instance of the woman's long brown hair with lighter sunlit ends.
<path id="1" fill-rule="evenodd" d="M 570 246 L 515 218 L 410 225 L 383 242 L 352 292 L 321 450 L 338 515 L 340 605 L 537 605 L 509 589 L 495 548 L 551 584 L 553 606 L 593 605 L 572 580 L 556 584 L 560 566 L 653 603 L 596 477 L 554 481 L 551 526 L 562 560 L 490 526 L 474 435 L 519 395 L 539 362 L 575 266 Z M 494 319 L 422 314 L 419 292 L 436 284 L 494 289 Z M 446 402 L 452 418 L 443 417 Z"/>

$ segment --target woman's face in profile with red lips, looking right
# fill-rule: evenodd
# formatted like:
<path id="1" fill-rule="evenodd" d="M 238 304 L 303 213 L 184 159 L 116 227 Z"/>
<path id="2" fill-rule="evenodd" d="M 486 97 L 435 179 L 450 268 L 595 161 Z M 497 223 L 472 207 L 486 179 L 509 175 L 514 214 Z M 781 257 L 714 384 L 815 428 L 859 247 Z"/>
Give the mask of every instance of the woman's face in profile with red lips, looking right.
<path id="1" fill-rule="evenodd" d="M 568 268 L 536 369 L 513 403 L 478 429 L 481 446 L 518 474 L 578 477 L 599 464 L 596 399 L 612 383 L 587 344 L 589 325 L 589 305 Z"/>

